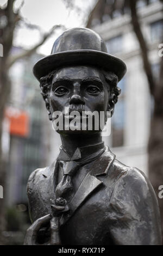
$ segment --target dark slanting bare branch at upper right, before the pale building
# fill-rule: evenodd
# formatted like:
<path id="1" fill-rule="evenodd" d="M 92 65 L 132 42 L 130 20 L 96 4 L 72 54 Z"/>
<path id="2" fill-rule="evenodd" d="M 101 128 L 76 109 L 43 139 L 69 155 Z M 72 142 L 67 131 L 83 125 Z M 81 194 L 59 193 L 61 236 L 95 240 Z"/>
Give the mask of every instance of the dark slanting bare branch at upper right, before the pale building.
<path id="1" fill-rule="evenodd" d="M 139 17 L 137 16 L 137 11 L 136 11 L 136 0 L 128 1 L 130 10 L 131 10 L 131 23 L 133 25 L 133 29 L 135 32 L 135 35 L 137 37 L 137 40 L 139 41 L 139 45 L 141 48 L 141 53 L 142 53 L 142 59 L 143 59 L 143 65 L 144 69 L 146 72 L 146 76 L 148 79 L 148 84 L 149 84 L 149 90 L 152 95 L 154 95 L 154 88 L 155 88 L 155 82 L 152 74 L 152 67 L 148 59 L 148 48 L 147 48 L 147 43 L 145 41 L 145 38 L 143 37 L 140 23 L 139 23 Z"/>

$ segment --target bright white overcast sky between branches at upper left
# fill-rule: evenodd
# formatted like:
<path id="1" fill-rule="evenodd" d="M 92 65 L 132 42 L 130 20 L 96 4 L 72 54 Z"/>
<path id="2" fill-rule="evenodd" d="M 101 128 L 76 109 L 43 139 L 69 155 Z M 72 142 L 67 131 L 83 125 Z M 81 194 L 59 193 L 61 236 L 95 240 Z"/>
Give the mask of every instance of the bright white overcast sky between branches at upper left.
<path id="1" fill-rule="evenodd" d="M 3 5 L 7 0 L 0 0 Z M 16 0 L 15 8 L 19 7 L 22 0 Z M 24 19 L 34 25 L 40 26 L 42 31 L 48 32 L 54 25 L 64 25 L 66 28 L 84 27 L 87 20 L 87 14 L 92 9 L 96 0 L 72 0 L 75 2 L 77 11 L 68 8 L 64 0 L 24 0 L 21 9 L 21 15 Z M 51 36 L 38 52 L 42 54 L 50 54 L 55 38 L 61 33 L 58 29 L 57 33 Z M 14 45 L 29 48 L 34 45 L 40 38 L 40 34 L 36 29 L 27 29 L 23 25 L 18 27 L 14 36 Z"/>

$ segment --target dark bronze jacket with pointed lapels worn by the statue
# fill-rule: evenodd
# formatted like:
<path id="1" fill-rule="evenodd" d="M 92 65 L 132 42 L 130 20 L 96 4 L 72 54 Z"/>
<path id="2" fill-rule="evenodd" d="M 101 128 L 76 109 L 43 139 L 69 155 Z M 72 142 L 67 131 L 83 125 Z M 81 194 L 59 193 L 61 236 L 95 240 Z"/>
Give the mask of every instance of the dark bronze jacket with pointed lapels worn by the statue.
<path id="1" fill-rule="evenodd" d="M 58 162 L 36 169 L 27 195 L 32 222 L 51 213 Z M 95 168 L 96 167 L 96 168 Z M 160 212 L 141 170 L 115 159 L 108 147 L 94 162 L 60 218 L 62 245 L 160 245 Z"/>

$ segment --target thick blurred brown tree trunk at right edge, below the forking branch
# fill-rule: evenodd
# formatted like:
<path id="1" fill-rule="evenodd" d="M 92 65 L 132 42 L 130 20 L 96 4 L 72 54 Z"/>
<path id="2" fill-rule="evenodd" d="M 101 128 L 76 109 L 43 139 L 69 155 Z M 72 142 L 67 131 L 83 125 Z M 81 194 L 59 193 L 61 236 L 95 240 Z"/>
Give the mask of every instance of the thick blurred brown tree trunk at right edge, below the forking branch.
<path id="1" fill-rule="evenodd" d="M 163 198 L 159 198 L 158 189 L 163 185 L 163 57 L 160 60 L 160 76 L 154 90 L 154 112 L 148 142 L 148 170 L 159 201 L 163 245 Z"/>

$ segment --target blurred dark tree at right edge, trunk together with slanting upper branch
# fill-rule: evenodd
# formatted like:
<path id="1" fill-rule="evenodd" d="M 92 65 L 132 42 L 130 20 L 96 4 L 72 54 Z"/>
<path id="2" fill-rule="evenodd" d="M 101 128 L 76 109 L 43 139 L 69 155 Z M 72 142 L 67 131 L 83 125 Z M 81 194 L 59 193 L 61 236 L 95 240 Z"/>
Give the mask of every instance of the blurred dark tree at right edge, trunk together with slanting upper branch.
<path id="1" fill-rule="evenodd" d="M 133 25 L 137 40 L 140 44 L 149 90 L 151 92 L 151 96 L 154 99 L 154 111 L 151 119 L 150 135 L 148 141 L 148 173 L 149 180 L 152 183 L 159 202 L 163 243 L 163 199 L 158 197 L 158 188 L 160 185 L 163 185 L 163 59 L 160 59 L 160 76 L 158 80 L 156 80 L 154 79 L 152 66 L 148 58 L 147 42 L 143 37 L 139 17 L 136 11 L 136 0 L 129 1 L 129 6 L 131 10 L 131 23 Z"/>

